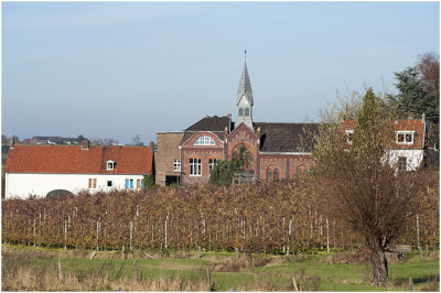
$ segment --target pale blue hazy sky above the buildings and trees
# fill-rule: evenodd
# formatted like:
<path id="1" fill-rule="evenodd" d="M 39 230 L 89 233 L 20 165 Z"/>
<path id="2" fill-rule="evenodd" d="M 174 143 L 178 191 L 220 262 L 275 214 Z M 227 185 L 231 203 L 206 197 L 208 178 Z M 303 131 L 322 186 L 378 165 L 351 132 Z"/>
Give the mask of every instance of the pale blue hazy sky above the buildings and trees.
<path id="1" fill-rule="evenodd" d="M 438 2 L 2 2 L 1 129 L 148 144 L 233 113 L 245 54 L 254 121 L 319 122 L 336 91 L 397 94 L 439 54 Z"/>

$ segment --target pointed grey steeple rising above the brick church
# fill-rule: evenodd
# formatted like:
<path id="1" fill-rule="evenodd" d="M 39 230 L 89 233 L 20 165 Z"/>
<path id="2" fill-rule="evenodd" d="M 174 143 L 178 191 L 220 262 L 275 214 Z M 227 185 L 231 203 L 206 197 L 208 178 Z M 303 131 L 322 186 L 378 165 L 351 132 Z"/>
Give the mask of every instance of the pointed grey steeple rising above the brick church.
<path id="1" fill-rule="evenodd" d="M 245 54 L 247 52 L 245 51 Z M 241 70 L 239 88 L 237 89 L 237 120 L 236 127 L 245 123 L 252 130 L 252 90 L 249 82 L 247 62 L 245 61 L 244 69 Z"/>

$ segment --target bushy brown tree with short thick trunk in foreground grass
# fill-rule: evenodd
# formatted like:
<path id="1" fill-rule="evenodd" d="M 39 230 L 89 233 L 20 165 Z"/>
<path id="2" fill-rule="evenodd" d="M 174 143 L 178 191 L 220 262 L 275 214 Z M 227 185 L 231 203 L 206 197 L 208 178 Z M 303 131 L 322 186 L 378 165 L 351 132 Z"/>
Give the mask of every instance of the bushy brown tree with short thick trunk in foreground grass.
<path id="1" fill-rule="evenodd" d="M 373 264 L 373 285 L 389 284 L 385 253 L 392 249 L 415 211 L 411 175 L 388 162 L 394 142 L 390 120 L 368 89 L 355 119 L 343 120 L 342 109 L 329 112 L 316 135 L 314 174 L 323 181 L 327 206 L 364 239 Z M 351 142 L 345 130 L 353 130 Z"/>

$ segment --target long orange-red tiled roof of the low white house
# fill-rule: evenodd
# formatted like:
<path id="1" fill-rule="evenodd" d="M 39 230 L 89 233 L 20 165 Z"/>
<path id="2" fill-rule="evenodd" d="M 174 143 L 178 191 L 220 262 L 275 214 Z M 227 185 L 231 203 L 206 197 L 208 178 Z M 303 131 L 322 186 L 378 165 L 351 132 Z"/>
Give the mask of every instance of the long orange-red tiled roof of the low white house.
<path id="1" fill-rule="evenodd" d="M 108 160 L 116 162 L 106 171 Z M 9 149 L 8 173 L 151 174 L 153 152 L 148 146 L 15 145 Z"/>

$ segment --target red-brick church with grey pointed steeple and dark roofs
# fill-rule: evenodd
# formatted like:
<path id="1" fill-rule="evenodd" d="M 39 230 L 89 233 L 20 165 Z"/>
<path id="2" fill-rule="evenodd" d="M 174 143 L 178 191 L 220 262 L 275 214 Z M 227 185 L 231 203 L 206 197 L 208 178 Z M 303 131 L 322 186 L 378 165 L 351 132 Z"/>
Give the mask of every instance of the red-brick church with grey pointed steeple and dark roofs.
<path id="1" fill-rule="evenodd" d="M 304 131 L 315 132 L 319 124 L 256 122 L 252 107 L 245 62 L 237 89 L 236 121 L 232 115 L 206 116 L 184 131 L 158 132 L 157 184 L 205 184 L 216 161 L 239 155 L 244 159 L 245 181 L 272 182 L 308 175 L 312 145 L 302 137 Z"/>

